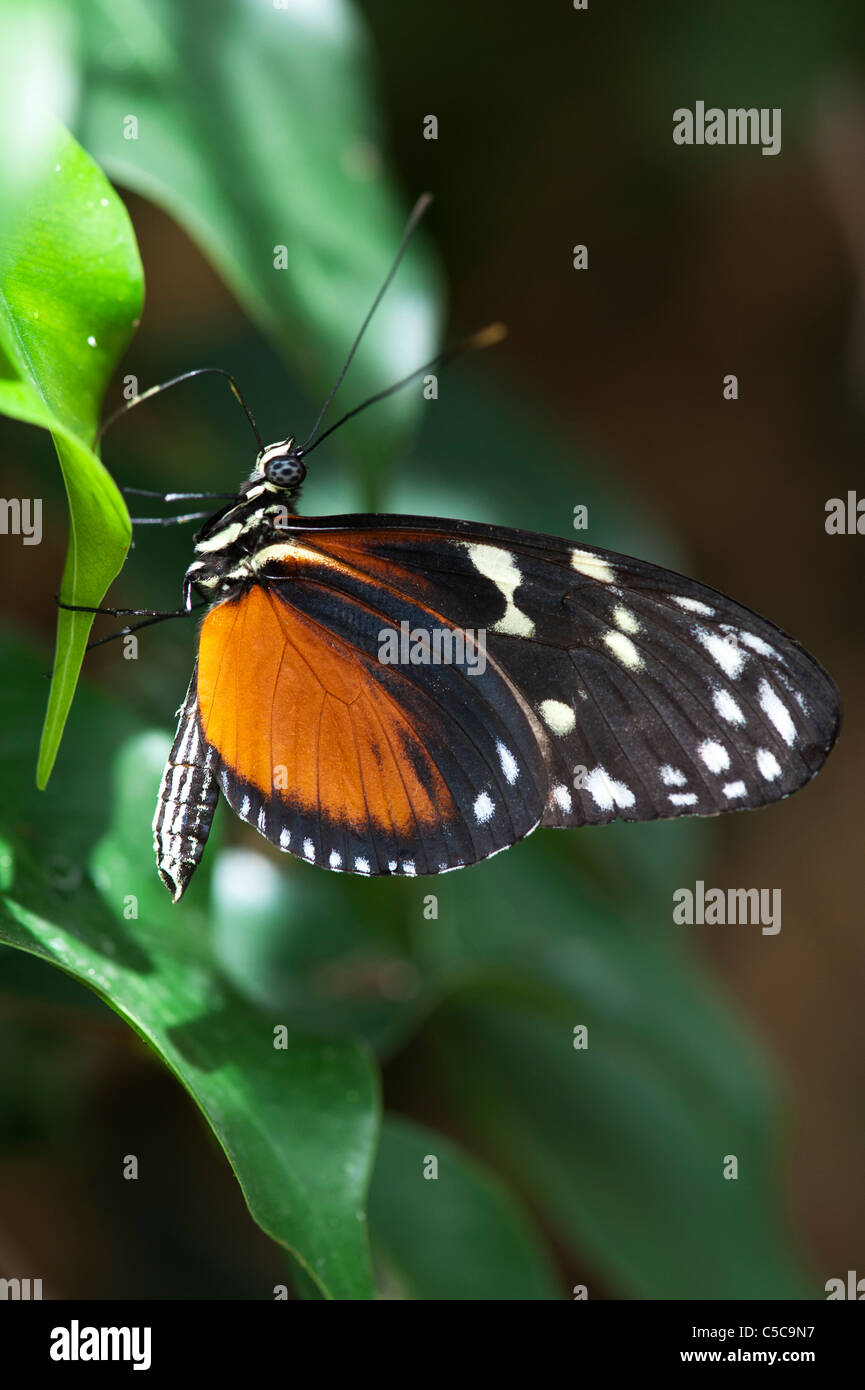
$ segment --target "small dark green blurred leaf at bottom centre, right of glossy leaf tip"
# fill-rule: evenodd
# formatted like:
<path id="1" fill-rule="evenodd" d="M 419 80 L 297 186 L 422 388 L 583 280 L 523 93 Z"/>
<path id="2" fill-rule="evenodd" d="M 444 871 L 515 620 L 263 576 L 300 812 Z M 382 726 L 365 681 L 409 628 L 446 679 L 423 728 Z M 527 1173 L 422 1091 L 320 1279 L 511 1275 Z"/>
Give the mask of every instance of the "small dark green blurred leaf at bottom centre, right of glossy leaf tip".
<path id="1" fill-rule="evenodd" d="M 430 1159 L 435 1159 L 435 1176 Z M 385 1295 L 560 1298 L 549 1259 L 505 1186 L 441 1134 L 387 1116 L 370 1188 Z"/>

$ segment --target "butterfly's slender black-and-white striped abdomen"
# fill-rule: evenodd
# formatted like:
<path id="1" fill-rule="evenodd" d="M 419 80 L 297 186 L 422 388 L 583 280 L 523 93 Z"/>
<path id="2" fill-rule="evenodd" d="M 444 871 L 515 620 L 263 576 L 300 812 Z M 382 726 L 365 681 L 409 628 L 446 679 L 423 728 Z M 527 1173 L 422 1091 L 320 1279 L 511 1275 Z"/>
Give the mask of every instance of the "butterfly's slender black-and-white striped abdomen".
<path id="1" fill-rule="evenodd" d="M 193 671 L 153 817 L 159 874 L 175 902 L 204 852 L 220 795 L 214 752 L 202 737 L 196 681 Z"/>

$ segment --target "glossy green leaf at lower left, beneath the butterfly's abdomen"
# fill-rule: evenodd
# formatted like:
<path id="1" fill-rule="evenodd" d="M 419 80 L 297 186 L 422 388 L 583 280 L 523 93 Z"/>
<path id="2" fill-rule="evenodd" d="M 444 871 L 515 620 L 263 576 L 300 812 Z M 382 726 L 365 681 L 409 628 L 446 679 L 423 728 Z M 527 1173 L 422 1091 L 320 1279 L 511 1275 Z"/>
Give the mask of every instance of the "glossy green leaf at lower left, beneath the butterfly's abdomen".
<path id="1" fill-rule="evenodd" d="M 83 688 L 68 756 L 40 795 L 26 746 L 42 662 L 7 648 L 4 664 L 15 678 L 0 688 L 0 941 L 75 976 L 150 1044 L 213 1127 L 257 1223 L 325 1297 L 373 1297 L 364 1193 L 378 1097 L 366 1049 L 291 1027 L 274 1047 L 284 1017 L 242 1001 L 214 965 L 206 870 L 188 910 L 168 902 L 150 834 L 168 739 Z"/>

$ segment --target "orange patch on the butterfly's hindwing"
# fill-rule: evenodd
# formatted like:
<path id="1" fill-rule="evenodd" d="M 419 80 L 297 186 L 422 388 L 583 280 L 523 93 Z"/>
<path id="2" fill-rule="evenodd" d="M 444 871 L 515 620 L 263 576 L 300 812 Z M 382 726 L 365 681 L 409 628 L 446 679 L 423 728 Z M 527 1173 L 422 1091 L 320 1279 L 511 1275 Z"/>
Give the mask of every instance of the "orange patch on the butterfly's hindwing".
<path id="1" fill-rule="evenodd" d="M 456 815 L 374 662 L 263 585 L 204 617 L 197 701 L 206 741 L 267 801 L 359 833 Z"/>

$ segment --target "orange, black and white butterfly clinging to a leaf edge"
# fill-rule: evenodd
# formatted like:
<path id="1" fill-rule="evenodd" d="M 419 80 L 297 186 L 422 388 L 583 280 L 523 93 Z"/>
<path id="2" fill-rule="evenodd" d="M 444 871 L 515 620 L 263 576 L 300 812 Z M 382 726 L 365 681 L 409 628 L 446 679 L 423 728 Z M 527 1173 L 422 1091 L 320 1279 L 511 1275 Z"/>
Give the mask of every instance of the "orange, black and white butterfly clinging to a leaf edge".
<path id="1" fill-rule="evenodd" d="M 184 612 L 206 613 L 153 820 L 175 902 L 220 796 L 307 863 L 423 876 L 538 826 L 765 806 L 819 770 L 839 692 L 773 623 L 558 537 L 302 517 L 325 434 L 256 430 L 250 477 L 195 538 Z"/>

